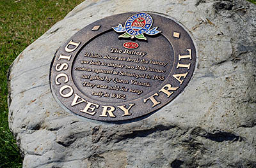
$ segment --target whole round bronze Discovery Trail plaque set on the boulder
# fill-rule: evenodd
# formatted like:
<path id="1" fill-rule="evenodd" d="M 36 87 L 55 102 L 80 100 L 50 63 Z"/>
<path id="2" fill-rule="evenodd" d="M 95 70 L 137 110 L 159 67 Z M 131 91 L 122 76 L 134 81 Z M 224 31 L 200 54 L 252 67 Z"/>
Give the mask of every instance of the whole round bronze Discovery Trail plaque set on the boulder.
<path id="1" fill-rule="evenodd" d="M 87 25 L 60 46 L 51 91 L 77 115 L 129 120 L 172 101 L 195 64 L 195 45 L 181 24 L 156 13 L 123 13 Z"/>

